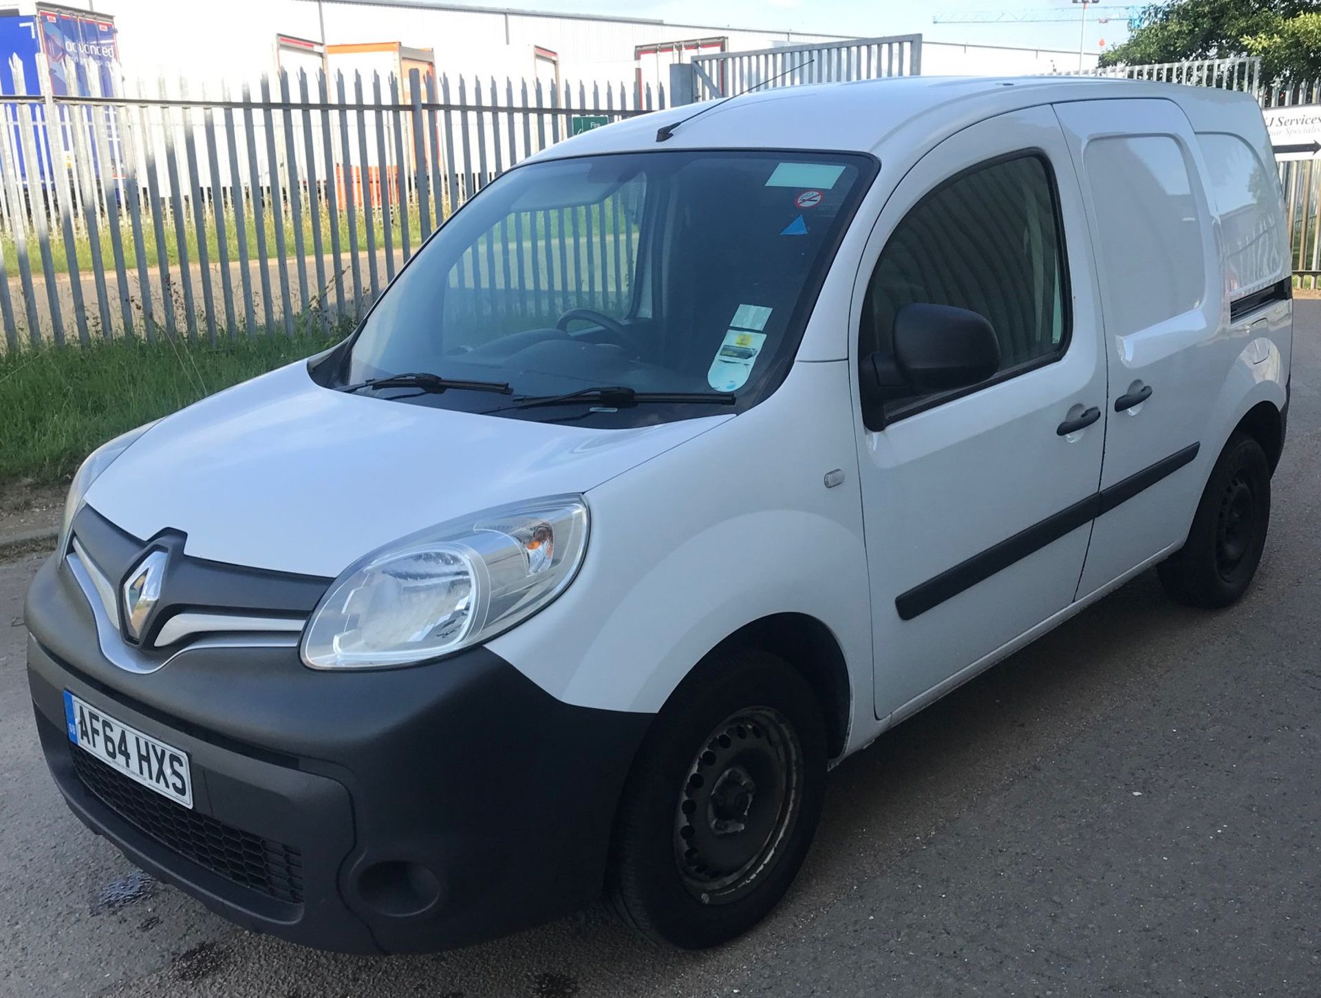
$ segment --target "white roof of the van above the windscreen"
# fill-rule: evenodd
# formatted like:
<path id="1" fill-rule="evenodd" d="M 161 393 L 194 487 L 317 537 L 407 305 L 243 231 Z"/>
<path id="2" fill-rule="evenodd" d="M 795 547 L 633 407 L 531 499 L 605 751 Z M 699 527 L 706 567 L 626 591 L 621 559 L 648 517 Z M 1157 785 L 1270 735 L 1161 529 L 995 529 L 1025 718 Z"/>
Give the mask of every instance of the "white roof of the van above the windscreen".
<path id="1" fill-rule="evenodd" d="M 724 102 L 671 107 L 585 132 L 534 159 L 713 148 L 880 155 L 884 145 L 910 126 L 921 128 L 919 141 L 927 144 L 933 137 L 1021 107 L 1116 98 L 1173 100 L 1184 107 L 1197 131 L 1248 130 L 1252 135 L 1262 127 L 1260 110 L 1251 95 L 1213 87 L 1098 77 L 889 77 L 774 87 Z M 1214 126 L 1201 126 L 1199 119 Z M 658 128 L 680 122 L 670 139 L 657 141 Z"/>

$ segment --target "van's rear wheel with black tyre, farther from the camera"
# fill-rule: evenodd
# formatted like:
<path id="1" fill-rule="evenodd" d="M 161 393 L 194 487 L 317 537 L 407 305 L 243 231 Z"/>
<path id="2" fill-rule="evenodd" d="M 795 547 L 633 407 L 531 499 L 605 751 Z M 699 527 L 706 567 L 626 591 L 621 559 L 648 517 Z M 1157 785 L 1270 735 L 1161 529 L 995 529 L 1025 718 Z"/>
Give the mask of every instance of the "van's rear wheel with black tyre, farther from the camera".
<path id="1" fill-rule="evenodd" d="M 1192 607 L 1227 607 L 1256 574 L 1271 523 L 1271 464 L 1262 445 L 1235 432 L 1211 469 L 1184 549 L 1157 572 L 1165 591 Z"/>

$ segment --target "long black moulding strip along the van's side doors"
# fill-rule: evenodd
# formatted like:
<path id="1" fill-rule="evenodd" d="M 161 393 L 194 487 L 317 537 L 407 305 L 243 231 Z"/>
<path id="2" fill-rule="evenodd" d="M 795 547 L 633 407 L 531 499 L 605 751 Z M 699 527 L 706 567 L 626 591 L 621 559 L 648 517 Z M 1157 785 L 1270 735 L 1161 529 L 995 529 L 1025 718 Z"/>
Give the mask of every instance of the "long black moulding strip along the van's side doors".
<path id="1" fill-rule="evenodd" d="M 1045 519 L 1020 530 L 1013 537 L 972 555 L 967 560 L 959 562 L 952 568 L 946 568 L 939 575 L 914 586 L 906 592 L 901 592 L 894 597 L 894 609 L 898 611 L 900 620 L 913 620 L 913 617 L 926 613 L 947 599 L 958 596 L 979 582 L 985 582 L 1015 562 L 1022 560 L 1029 554 L 1040 551 L 1065 534 L 1127 502 L 1161 479 L 1173 475 L 1185 464 L 1189 464 L 1197 457 L 1201 447 L 1201 443 L 1189 444 L 1182 451 L 1176 451 L 1169 457 L 1162 457 L 1156 464 L 1143 468 L 1136 475 L 1129 475 L 1123 481 L 1116 481 L 1110 488 L 1074 502 L 1071 506 L 1066 506 L 1058 513 L 1053 513 Z"/>

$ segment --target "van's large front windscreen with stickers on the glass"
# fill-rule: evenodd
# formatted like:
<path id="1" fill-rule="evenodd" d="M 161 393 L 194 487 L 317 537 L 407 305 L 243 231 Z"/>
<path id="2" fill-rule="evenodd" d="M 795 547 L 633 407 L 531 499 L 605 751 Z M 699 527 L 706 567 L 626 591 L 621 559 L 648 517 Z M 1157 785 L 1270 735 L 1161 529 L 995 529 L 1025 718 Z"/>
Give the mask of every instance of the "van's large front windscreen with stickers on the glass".
<path id="1" fill-rule="evenodd" d="M 783 378 L 875 169 L 760 151 L 519 167 L 400 272 L 334 385 L 589 426 L 740 411 Z"/>

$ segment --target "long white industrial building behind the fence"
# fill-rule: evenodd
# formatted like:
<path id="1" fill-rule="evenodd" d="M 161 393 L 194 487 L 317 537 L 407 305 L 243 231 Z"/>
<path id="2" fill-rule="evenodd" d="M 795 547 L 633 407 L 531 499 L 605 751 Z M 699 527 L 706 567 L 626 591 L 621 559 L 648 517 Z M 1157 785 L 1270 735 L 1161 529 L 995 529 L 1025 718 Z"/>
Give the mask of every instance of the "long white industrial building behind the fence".
<path id="1" fill-rule="evenodd" d="M 33 13 L 38 4 L 20 3 Z M 692 54 L 832 41 L 771 28 L 671 24 L 641 17 L 546 13 L 435 0 L 66 0 L 46 11 L 91 12 L 115 28 L 123 77 L 155 89 L 181 78 L 192 93 L 221 79 L 328 67 L 417 67 L 437 75 L 501 81 L 668 85 L 668 66 Z M 768 15 L 769 17 L 770 15 Z M 890 34 L 884 13 L 875 34 Z M 828 26 L 828 25 L 826 25 Z M 382 54 L 383 53 L 383 54 Z M 392 53 L 392 54 L 391 54 Z M 353 56 L 354 58 L 341 58 Z M 1095 63 L 1095 56 L 1087 56 Z M 923 40 L 925 75 L 1030 74 L 1078 69 L 1077 50 L 959 45 Z M 339 63 L 338 66 L 336 63 Z M 408 63 L 408 65 L 406 65 Z M 129 87 L 132 89 L 132 86 Z"/>

